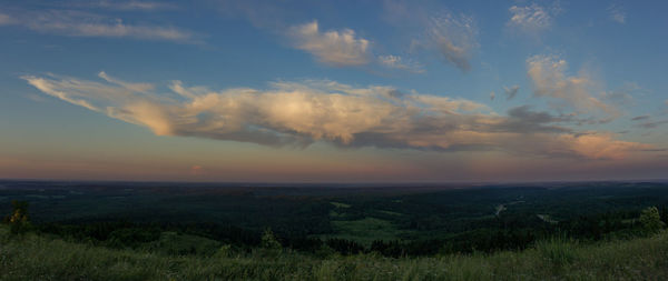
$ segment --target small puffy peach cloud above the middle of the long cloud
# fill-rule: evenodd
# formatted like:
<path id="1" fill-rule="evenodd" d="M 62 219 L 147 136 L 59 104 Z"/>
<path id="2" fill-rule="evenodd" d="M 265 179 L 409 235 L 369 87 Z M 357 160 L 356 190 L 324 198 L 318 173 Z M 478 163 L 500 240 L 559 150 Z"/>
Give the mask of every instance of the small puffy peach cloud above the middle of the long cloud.
<path id="1" fill-rule="evenodd" d="M 322 63 L 334 67 L 362 66 L 370 61 L 370 41 L 352 29 L 322 32 L 317 21 L 289 28 L 294 47 L 310 52 Z"/>

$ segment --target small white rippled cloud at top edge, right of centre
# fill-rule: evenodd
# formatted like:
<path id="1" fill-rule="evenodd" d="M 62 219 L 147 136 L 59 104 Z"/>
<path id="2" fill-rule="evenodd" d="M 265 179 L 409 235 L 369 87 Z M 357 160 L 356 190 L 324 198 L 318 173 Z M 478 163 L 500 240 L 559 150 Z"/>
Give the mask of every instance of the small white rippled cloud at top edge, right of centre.
<path id="1" fill-rule="evenodd" d="M 508 10 L 511 17 L 505 26 L 531 36 L 538 36 L 550 29 L 553 23 L 553 17 L 560 11 L 558 6 L 544 8 L 537 3 L 524 7 L 512 6 Z"/>

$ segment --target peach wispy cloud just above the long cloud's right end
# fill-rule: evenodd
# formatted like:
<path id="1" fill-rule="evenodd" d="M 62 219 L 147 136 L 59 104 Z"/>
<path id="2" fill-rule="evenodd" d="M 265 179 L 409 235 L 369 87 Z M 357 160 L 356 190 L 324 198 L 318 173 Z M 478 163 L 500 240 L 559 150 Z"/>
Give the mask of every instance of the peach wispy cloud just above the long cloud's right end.
<path id="1" fill-rule="evenodd" d="M 587 73 L 569 77 L 567 69 L 566 60 L 554 56 L 533 56 L 527 59 L 527 73 L 537 96 L 560 100 L 580 113 L 597 111 L 609 118 L 619 116 L 615 107 L 591 94 L 596 83 Z"/>

